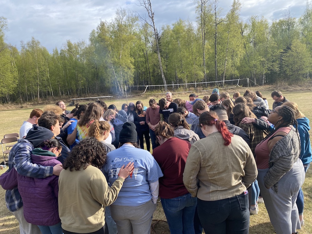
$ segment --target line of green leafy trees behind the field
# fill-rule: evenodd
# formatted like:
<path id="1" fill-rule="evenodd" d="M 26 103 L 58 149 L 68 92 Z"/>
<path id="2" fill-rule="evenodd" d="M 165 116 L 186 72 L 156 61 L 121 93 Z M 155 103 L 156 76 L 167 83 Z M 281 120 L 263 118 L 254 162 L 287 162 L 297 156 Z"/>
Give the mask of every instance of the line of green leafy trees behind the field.
<path id="1" fill-rule="evenodd" d="M 285 11 L 273 22 L 259 16 L 244 22 L 239 0 L 226 13 L 217 0 L 194 4 L 196 22 L 179 19 L 158 30 L 150 0 L 141 0 L 146 16 L 119 8 L 111 21 L 99 22 L 88 41 L 67 40 L 52 53 L 34 37 L 21 42 L 20 50 L 7 44 L 7 19 L 0 17 L 0 99 L 119 95 L 124 85 L 310 79 L 310 1 L 300 18 Z"/>

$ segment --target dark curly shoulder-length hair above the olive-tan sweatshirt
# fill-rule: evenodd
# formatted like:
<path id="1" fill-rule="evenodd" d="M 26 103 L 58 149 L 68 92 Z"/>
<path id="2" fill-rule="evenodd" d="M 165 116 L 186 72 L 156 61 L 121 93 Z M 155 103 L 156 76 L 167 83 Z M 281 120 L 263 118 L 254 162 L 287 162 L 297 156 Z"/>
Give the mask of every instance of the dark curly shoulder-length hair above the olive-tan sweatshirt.
<path id="1" fill-rule="evenodd" d="M 82 139 L 75 145 L 69 156 L 63 163 L 63 168 L 70 171 L 76 171 L 87 168 L 92 165 L 96 168 L 102 168 L 106 161 L 106 150 L 103 144 L 94 137 Z"/>

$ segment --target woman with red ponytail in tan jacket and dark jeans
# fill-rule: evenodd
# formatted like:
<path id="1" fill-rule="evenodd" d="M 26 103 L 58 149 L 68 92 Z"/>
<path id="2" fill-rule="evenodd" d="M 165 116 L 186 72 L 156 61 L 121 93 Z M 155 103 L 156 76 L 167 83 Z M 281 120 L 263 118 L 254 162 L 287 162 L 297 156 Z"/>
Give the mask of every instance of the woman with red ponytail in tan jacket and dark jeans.
<path id="1" fill-rule="evenodd" d="M 196 141 L 186 161 L 183 182 L 193 197 L 206 233 L 249 232 L 247 188 L 256 180 L 256 162 L 248 144 L 233 135 L 213 111 L 199 124 L 206 136 Z"/>

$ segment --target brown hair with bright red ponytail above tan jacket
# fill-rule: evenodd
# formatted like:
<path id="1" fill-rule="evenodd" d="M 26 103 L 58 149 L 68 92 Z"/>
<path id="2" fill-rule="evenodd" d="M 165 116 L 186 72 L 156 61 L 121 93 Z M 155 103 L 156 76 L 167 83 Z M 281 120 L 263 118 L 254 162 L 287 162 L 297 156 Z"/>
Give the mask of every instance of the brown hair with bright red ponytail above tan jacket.
<path id="1" fill-rule="evenodd" d="M 224 145 L 231 144 L 233 134 L 229 132 L 227 126 L 223 121 L 219 121 L 218 115 L 214 111 L 205 111 L 199 116 L 199 127 L 202 125 L 216 125 L 219 133 L 221 133 L 224 139 Z"/>

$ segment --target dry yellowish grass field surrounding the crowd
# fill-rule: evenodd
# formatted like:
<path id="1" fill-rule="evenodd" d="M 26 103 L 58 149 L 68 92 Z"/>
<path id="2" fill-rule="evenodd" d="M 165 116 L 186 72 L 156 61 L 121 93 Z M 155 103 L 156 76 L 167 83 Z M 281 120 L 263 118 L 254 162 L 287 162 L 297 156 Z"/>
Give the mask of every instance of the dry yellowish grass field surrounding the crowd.
<path id="1" fill-rule="evenodd" d="M 272 107 L 273 100 L 271 99 L 271 92 L 273 89 L 270 87 L 265 87 L 266 90 L 263 88 L 258 87 L 251 88 L 251 90 L 260 90 L 262 95 L 268 99 L 269 107 Z M 234 92 L 239 91 L 244 93 L 246 88 L 240 88 L 227 90 L 227 92 L 230 93 L 230 95 L 233 95 Z M 221 90 L 220 90 L 221 91 Z M 307 118 L 312 119 L 312 99 L 310 98 L 312 95 L 312 91 L 282 91 L 283 95 L 291 101 L 296 102 L 299 105 L 299 109 L 302 113 L 306 115 Z M 211 93 L 207 93 L 210 95 Z M 202 97 L 205 94 L 199 94 L 199 97 Z M 188 100 L 188 95 L 175 95 L 173 94 L 173 98 L 182 98 L 184 100 Z M 137 96 L 131 96 L 128 98 L 128 102 L 136 102 L 137 100 L 141 100 L 145 106 L 148 106 L 148 101 L 150 98 L 155 98 L 156 100 L 159 100 L 160 96 L 151 96 L 151 95 L 137 95 Z M 66 104 L 69 103 L 65 102 Z M 106 100 L 104 100 L 106 101 Z M 119 100 L 113 100 L 112 104 L 115 104 L 117 108 L 121 108 L 121 105 L 126 102 L 126 99 L 119 99 Z M 107 104 L 110 104 L 106 101 Z M 82 104 L 82 103 L 81 103 Z M 31 108 L 23 108 L 23 109 L 13 109 L 13 110 L 5 110 L 0 111 L 0 137 L 3 138 L 4 134 L 7 133 L 13 133 L 13 132 L 19 132 L 19 128 L 22 125 L 23 121 L 27 120 L 29 117 L 29 114 L 33 108 L 42 108 L 42 105 L 38 106 L 32 106 Z M 68 107 L 68 110 L 71 110 L 73 107 Z M 2 160 L 1 160 L 2 161 Z M 305 178 L 305 183 L 303 185 L 303 193 L 304 193 L 304 199 L 305 199 L 305 212 L 304 212 L 304 219 L 305 219 L 305 226 L 302 227 L 301 230 L 299 230 L 300 234 L 308 234 L 312 233 L 312 169 L 308 170 Z M 2 174 L 4 170 L 0 171 L 0 174 Z M 15 217 L 12 216 L 12 213 L 7 210 L 7 207 L 5 205 L 4 201 L 4 194 L 5 191 L 0 188 L 0 234 L 17 234 L 19 233 L 18 223 L 15 220 Z M 163 210 L 161 207 L 161 204 L 159 203 L 157 210 L 154 213 L 153 216 L 156 220 L 166 220 Z M 153 221 L 153 224 L 155 224 L 155 221 Z M 153 226 L 152 224 L 152 226 Z M 151 233 L 163 233 L 168 234 L 169 229 L 168 225 L 165 222 L 157 222 L 155 226 L 152 229 Z M 262 234 L 262 233 L 274 233 L 273 227 L 270 223 L 269 216 L 266 212 L 266 208 L 264 204 L 259 204 L 259 214 L 253 215 L 250 217 L 250 231 L 251 234 Z"/>

